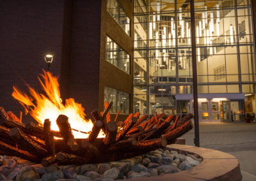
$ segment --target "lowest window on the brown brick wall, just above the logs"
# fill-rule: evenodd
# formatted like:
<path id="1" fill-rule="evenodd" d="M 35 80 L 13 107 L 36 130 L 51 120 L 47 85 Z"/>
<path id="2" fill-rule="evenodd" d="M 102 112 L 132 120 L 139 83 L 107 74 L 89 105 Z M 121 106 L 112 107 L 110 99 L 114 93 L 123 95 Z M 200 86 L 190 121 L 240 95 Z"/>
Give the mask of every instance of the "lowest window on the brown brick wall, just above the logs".
<path id="1" fill-rule="evenodd" d="M 105 87 L 104 89 L 104 102 L 112 101 L 113 106 L 111 107 L 110 113 L 117 113 L 120 110 L 120 113 L 129 113 L 130 107 L 130 96 L 126 92 L 118 91 L 111 87 Z"/>

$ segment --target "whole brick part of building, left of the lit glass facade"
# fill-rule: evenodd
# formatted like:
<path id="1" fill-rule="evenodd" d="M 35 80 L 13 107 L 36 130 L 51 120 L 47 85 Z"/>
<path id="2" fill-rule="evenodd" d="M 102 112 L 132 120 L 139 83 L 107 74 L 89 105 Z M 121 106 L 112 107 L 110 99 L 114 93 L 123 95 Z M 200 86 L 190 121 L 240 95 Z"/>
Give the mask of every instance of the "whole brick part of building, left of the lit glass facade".
<path id="1" fill-rule="evenodd" d="M 42 92 L 38 75 L 58 76 L 61 98 L 74 98 L 91 117 L 113 101 L 119 119 L 132 112 L 133 1 L 1 1 L 0 106 L 19 117 L 13 86 Z M 23 120 L 30 120 L 24 115 Z"/>

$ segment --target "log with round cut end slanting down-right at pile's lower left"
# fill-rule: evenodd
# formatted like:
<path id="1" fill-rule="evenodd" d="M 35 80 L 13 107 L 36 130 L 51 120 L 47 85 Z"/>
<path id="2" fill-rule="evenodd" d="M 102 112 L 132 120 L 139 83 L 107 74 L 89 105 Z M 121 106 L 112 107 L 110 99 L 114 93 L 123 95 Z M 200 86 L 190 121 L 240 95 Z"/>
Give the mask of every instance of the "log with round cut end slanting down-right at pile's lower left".
<path id="1" fill-rule="evenodd" d="M 18 127 L 13 127 L 9 131 L 9 136 L 21 147 L 26 148 L 31 153 L 36 154 L 36 156 L 44 156 L 46 150 L 40 145 L 36 144 L 35 141 L 31 140 L 25 133 L 23 133 Z"/>

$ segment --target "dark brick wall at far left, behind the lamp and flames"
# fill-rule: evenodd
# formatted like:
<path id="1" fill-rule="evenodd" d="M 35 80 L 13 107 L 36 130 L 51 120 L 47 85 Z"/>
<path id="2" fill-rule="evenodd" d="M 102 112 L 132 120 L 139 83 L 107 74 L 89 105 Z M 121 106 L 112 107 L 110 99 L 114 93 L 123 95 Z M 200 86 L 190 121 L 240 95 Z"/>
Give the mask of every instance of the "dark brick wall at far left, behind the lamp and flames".
<path id="1" fill-rule="evenodd" d="M 60 76 L 63 0 L 2 0 L 0 22 L 0 106 L 19 116 L 24 109 L 12 98 L 12 86 L 39 89 L 47 52 L 55 55 L 51 72 Z"/>

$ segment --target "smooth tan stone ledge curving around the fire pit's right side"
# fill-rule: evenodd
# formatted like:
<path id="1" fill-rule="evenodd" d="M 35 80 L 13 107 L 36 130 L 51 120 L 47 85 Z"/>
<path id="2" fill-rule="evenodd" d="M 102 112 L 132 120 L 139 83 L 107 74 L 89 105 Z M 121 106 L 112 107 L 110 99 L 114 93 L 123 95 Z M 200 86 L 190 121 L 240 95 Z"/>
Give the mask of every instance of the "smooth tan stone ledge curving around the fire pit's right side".
<path id="1" fill-rule="evenodd" d="M 179 144 L 168 145 L 167 148 L 170 150 L 177 150 L 182 154 L 189 154 L 189 152 L 190 154 L 197 154 L 198 156 L 202 157 L 203 161 L 198 166 L 195 166 L 189 170 L 180 171 L 178 173 L 164 174 L 158 177 L 132 178 L 129 179 L 129 181 L 242 180 L 238 159 L 230 154 L 208 148 Z"/>

